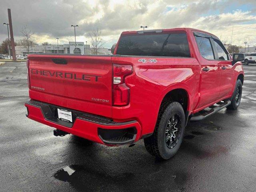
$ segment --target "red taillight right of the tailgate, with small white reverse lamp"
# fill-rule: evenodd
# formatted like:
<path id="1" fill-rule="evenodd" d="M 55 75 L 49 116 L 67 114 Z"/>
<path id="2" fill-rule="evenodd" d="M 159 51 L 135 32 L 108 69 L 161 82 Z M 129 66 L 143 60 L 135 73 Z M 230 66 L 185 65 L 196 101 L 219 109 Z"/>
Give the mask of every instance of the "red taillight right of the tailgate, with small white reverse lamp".
<path id="1" fill-rule="evenodd" d="M 125 77 L 132 74 L 131 65 L 113 64 L 113 105 L 126 106 L 130 102 L 130 88 Z"/>

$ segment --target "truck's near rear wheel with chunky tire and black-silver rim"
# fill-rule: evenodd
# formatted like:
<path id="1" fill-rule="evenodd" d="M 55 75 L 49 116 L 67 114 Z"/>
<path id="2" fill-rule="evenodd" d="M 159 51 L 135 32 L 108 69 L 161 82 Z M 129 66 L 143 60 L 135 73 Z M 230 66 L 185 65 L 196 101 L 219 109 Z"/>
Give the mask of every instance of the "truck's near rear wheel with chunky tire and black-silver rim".
<path id="1" fill-rule="evenodd" d="M 176 154 L 183 140 L 185 114 L 180 103 L 163 102 L 152 136 L 144 139 L 146 150 L 164 160 Z"/>

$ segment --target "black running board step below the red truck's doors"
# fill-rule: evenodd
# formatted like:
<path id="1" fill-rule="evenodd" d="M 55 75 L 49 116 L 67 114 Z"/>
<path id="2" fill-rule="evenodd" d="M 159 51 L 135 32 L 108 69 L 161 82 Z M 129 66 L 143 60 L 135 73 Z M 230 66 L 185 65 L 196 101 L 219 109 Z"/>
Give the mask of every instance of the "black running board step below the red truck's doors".
<path id="1" fill-rule="evenodd" d="M 204 118 L 206 118 L 206 117 L 208 117 L 208 116 L 218 112 L 219 110 L 222 110 L 226 106 L 229 106 L 230 103 L 231 103 L 230 100 L 225 100 L 225 102 L 221 102 L 221 103 L 218 102 L 218 104 L 220 104 L 219 106 L 214 106 L 214 107 L 211 106 L 212 109 L 210 109 L 209 111 L 205 111 L 205 112 L 203 112 L 203 113 L 201 113 L 199 115 L 192 116 L 190 118 L 190 122 L 196 122 L 196 121 L 203 120 Z"/>

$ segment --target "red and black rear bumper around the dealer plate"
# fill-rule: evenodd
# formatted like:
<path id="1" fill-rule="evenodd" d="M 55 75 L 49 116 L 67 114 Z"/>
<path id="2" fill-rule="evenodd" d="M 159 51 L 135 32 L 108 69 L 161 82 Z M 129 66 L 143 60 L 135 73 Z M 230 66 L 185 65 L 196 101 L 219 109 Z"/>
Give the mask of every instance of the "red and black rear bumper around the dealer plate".
<path id="1" fill-rule="evenodd" d="M 136 142 L 140 139 L 141 126 L 137 121 L 114 122 L 111 119 L 70 110 L 73 123 L 58 119 L 56 108 L 62 108 L 43 102 L 28 100 L 26 116 L 32 120 L 54 127 L 105 145 L 120 145 Z M 63 108 L 62 108 L 63 109 Z"/>

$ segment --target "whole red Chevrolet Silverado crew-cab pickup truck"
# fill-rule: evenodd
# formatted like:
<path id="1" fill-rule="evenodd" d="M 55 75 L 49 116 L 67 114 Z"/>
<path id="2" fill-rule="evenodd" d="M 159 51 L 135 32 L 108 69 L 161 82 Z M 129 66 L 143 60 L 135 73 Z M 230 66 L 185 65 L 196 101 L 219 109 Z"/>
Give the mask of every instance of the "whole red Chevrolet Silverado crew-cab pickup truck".
<path id="1" fill-rule="evenodd" d="M 109 146 L 144 139 L 150 154 L 169 159 L 188 119 L 239 106 L 241 60 L 191 28 L 122 32 L 112 56 L 30 54 L 26 116 L 55 136 Z"/>

